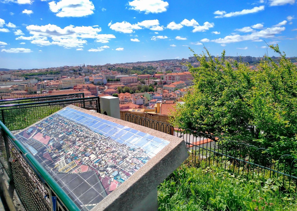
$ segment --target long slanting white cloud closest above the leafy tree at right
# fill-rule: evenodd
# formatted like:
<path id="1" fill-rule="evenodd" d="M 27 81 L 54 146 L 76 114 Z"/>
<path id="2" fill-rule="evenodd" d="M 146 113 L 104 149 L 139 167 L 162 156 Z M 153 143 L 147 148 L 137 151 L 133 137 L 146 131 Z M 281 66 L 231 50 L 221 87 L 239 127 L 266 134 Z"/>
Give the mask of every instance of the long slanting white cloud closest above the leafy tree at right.
<path id="1" fill-rule="evenodd" d="M 211 40 L 212 42 L 226 44 L 226 43 L 233 43 L 233 42 L 241 42 L 241 41 L 258 41 L 260 38 L 273 38 L 276 34 L 285 31 L 285 27 L 272 27 L 266 28 L 261 31 L 253 32 L 251 34 L 246 35 L 229 35 L 225 36 L 224 38 L 214 39 Z"/>

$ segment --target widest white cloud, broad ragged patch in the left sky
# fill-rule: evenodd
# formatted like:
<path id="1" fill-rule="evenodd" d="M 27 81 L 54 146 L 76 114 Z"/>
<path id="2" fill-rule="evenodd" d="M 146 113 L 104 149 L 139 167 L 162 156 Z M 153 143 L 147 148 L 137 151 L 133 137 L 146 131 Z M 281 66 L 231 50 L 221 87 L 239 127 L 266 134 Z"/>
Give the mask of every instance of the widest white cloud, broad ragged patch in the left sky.
<path id="1" fill-rule="evenodd" d="M 60 28 L 57 25 L 29 25 L 26 27 L 31 36 L 19 36 L 16 40 L 31 40 L 32 44 L 47 46 L 59 45 L 62 47 L 83 47 L 86 44 L 85 39 L 94 39 L 96 42 L 108 43 L 110 39 L 116 38 L 113 34 L 99 34 L 101 28 L 91 26 L 73 26 L 69 25 Z M 21 33 L 21 31 L 20 31 Z M 51 39 L 50 42 L 48 39 Z"/>

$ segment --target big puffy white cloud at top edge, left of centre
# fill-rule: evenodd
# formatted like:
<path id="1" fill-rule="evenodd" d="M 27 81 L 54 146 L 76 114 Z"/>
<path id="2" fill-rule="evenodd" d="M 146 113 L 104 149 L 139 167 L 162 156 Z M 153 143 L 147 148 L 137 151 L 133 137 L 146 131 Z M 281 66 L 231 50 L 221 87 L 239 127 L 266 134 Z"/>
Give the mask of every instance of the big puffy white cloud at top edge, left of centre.
<path id="1" fill-rule="evenodd" d="M 58 17 L 83 17 L 93 14 L 94 4 L 89 0 L 61 0 L 48 3 Z"/>

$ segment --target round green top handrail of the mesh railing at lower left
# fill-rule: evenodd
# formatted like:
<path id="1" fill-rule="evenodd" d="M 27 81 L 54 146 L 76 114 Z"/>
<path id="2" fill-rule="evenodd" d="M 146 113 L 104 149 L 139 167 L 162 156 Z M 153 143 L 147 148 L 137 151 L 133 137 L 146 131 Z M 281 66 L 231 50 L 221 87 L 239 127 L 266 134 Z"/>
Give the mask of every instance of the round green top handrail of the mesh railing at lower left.
<path id="1" fill-rule="evenodd" d="M 26 147 L 8 130 L 8 128 L 0 121 L 0 127 L 3 133 L 7 135 L 12 144 L 19 150 L 20 154 L 30 162 L 30 166 L 34 171 L 37 171 L 37 175 L 40 175 L 42 179 L 47 183 L 50 189 L 56 194 L 60 201 L 69 211 L 80 211 L 78 206 L 73 202 L 72 199 L 65 193 L 65 191 L 59 186 L 50 174 L 42 167 L 42 165 L 34 158 L 34 156 L 26 149 Z"/>

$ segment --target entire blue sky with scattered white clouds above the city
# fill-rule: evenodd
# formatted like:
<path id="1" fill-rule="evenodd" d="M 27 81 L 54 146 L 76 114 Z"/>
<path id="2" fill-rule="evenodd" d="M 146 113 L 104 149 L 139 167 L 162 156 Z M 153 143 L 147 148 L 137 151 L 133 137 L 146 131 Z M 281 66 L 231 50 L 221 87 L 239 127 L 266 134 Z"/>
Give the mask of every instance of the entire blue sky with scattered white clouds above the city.
<path id="1" fill-rule="evenodd" d="M 297 56 L 295 0 L 0 0 L 0 68 L 212 55 Z M 268 50 L 268 55 L 274 55 Z"/>

